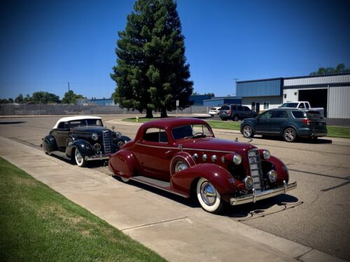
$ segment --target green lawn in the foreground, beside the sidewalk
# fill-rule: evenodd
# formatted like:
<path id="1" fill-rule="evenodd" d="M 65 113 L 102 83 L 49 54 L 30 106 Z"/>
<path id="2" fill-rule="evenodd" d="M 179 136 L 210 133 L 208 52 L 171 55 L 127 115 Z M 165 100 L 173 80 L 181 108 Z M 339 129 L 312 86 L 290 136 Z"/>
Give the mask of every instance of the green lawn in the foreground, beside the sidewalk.
<path id="1" fill-rule="evenodd" d="M 0 158 L 0 261 L 165 259 Z"/>

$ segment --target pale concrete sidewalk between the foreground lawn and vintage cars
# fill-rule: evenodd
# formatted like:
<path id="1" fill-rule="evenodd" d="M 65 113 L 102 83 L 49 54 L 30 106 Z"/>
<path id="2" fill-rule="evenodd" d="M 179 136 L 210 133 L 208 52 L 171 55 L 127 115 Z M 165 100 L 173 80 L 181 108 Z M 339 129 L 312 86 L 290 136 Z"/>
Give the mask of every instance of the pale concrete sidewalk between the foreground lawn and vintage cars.
<path id="1" fill-rule="evenodd" d="M 0 156 L 169 261 L 342 261 L 0 137 Z"/>

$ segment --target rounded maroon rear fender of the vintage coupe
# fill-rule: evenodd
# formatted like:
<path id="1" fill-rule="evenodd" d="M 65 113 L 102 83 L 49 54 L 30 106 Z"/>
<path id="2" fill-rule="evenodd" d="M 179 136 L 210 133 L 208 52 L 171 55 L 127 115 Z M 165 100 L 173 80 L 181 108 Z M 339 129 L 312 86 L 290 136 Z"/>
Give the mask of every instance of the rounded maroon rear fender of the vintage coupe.
<path id="1" fill-rule="evenodd" d="M 109 159 L 109 170 L 114 175 L 121 177 L 132 177 L 140 170 L 139 162 L 129 150 L 119 150 Z"/>

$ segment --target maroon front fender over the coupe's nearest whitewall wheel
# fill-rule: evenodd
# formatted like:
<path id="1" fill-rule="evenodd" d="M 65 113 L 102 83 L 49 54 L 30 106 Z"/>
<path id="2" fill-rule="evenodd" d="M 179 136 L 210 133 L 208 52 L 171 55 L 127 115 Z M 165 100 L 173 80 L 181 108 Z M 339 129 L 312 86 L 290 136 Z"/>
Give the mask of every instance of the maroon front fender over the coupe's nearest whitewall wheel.
<path id="1" fill-rule="evenodd" d="M 171 177 L 172 189 L 190 196 L 191 188 L 195 186 L 193 183 L 200 177 L 209 180 L 222 196 L 236 191 L 235 179 L 228 170 L 213 163 L 201 163 L 175 173 Z"/>

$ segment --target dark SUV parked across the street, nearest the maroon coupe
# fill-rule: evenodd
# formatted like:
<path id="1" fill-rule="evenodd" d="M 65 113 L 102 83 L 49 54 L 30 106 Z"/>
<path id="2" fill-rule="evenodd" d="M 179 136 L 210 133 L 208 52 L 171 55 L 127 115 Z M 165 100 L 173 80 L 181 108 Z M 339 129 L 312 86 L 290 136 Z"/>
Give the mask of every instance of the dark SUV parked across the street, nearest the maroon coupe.
<path id="1" fill-rule="evenodd" d="M 255 118 L 241 122 L 241 133 L 246 138 L 256 135 L 283 136 L 287 142 L 297 137 L 316 139 L 327 136 L 325 119 L 320 112 L 296 108 L 276 108 Z"/>

